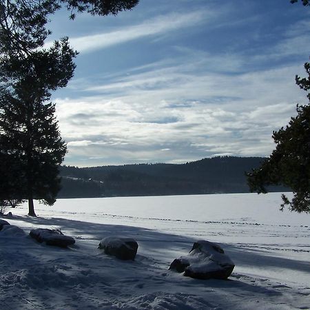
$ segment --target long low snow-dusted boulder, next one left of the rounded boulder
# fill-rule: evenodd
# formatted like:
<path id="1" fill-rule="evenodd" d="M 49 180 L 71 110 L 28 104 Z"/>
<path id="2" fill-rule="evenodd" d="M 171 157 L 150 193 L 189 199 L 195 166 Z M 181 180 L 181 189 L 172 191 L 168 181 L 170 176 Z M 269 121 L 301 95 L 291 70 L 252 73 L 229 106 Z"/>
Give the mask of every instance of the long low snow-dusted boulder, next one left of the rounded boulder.
<path id="1" fill-rule="evenodd" d="M 52 229 L 32 229 L 29 234 L 40 243 L 45 242 L 46 245 L 55 245 L 56 247 L 68 247 L 68 245 L 74 245 L 75 243 L 74 238 Z"/>

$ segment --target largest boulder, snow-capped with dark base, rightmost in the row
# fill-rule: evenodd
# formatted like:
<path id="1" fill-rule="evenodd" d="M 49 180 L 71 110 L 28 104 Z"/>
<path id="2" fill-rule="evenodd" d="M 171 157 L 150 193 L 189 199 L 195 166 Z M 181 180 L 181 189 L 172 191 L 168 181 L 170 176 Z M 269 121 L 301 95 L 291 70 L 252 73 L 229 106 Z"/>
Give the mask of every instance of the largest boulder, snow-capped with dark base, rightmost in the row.
<path id="1" fill-rule="evenodd" d="M 205 240 L 198 240 L 187 256 L 176 258 L 169 269 L 184 276 L 196 279 L 221 279 L 225 280 L 234 270 L 234 262 L 217 245 Z"/>

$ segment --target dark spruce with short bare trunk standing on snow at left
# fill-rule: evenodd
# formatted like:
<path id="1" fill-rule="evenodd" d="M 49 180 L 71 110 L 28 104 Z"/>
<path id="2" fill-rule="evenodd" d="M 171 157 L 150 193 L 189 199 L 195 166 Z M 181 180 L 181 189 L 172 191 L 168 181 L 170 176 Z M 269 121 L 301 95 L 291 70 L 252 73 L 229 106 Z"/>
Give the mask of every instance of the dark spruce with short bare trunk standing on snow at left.
<path id="1" fill-rule="evenodd" d="M 29 215 L 35 216 L 33 199 L 52 205 L 60 189 L 58 167 L 66 145 L 54 118 L 54 104 L 27 105 L 17 92 L 16 97 L 1 96 L 0 106 L 1 154 L 6 157 L 4 169 L 1 163 L 6 172 L 1 189 L 8 190 L 3 196 L 28 199 Z"/>

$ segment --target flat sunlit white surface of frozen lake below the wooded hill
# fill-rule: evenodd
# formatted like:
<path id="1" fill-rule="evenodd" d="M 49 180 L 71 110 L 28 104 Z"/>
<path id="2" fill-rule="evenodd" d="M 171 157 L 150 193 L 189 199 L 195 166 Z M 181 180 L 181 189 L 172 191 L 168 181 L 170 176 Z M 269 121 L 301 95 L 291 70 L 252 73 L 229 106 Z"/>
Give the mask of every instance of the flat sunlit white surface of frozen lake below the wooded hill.
<path id="1" fill-rule="evenodd" d="M 280 193 L 215 194 L 193 196 L 153 196 L 59 199 L 52 207 L 36 205 L 41 216 L 87 214 L 92 221 L 181 220 L 195 222 L 242 221 L 269 225 L 310 225 L 308 216 L 285 209 L 281 212 Z M 24 205 L 26 207 L 26 204 Z"/>

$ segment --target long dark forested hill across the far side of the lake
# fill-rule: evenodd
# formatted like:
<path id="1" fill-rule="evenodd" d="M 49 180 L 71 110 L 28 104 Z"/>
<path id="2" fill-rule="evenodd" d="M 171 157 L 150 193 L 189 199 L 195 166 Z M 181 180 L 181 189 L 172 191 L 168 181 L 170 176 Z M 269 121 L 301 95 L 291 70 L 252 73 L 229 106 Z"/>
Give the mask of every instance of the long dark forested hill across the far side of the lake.
<path id="1" fill-rule="evenodd" d="M 225 156 L 180 165 L 62 166 L 59 198 L 245 193 L 249 192 L 245 172 L 264 159 Z"/>

